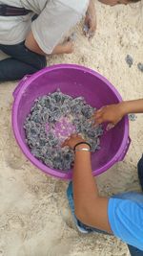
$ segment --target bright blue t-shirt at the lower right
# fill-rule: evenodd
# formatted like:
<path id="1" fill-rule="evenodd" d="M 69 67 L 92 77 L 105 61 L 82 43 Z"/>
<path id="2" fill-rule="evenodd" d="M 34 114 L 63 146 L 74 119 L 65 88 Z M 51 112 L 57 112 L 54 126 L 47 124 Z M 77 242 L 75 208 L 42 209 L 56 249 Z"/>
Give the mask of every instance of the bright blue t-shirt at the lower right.
<path id="1" fill-rule="evenodd" d="M 143 194 L 128 192 L 110 198 L 108 215 L 114 236 L 143 250 Z"/>

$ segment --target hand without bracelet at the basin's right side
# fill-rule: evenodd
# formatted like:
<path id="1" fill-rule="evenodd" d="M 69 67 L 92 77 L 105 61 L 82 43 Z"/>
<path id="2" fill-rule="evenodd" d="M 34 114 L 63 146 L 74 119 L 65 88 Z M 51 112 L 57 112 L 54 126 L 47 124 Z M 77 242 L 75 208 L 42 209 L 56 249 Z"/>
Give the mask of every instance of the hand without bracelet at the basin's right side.
<path id="1" fill-rule="evenodd" d="M 121 104 L 106 105 L 97 110 L 93 116 L 95 125 L 108 122 L 107 129 L 113 128 L 124 116 Z"/>

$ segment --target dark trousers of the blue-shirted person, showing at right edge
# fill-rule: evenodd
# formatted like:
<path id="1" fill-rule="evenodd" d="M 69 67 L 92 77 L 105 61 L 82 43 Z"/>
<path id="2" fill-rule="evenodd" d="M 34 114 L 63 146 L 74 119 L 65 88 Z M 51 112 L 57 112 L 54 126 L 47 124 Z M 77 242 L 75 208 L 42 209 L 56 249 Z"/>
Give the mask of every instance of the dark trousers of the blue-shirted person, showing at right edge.
<path id="1" fill-rule="evenodd" d="M 138 179 L 139 179 L 139 183 L 141 186 L 141 189 L 143 191 L 143 156 L 141 157 L 141 159 L 138 162 L 137 165 L 137 171 L 138 171 Z M 133 247 L 132 245 L 128 244 L 128 248 L 130 250 L 130 253 L 132 256 L 143 256 L 143 251 L 139 250 L 135 247 Z"/>

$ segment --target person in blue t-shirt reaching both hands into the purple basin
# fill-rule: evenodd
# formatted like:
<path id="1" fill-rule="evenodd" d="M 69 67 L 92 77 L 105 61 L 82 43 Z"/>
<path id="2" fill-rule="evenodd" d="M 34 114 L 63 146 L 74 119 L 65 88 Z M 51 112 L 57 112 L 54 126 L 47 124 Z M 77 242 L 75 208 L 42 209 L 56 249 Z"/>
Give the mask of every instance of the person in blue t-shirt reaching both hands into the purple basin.
<path id="1" fill-rule="evenodd" d="M 108 122 L 113 127 L 133 112 L 143 113 L 143 99 L 104 106 L 96 112 L 95 123 Z M 81 136 L 72 135 L 63 146 L 75 152 L 73 192 L 70 183 L 67 195 L 78 229 L 83 233 L 114 235 L 128 244 L 132 256 L 143 256 L 143 194 L 128 192 L 101 197 L 92 176 L 89 144 Z M 138 176 L 143 191 L 143 157 L 138 162 Z"/>

